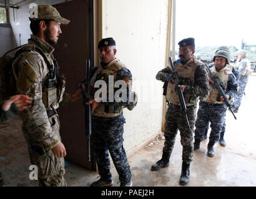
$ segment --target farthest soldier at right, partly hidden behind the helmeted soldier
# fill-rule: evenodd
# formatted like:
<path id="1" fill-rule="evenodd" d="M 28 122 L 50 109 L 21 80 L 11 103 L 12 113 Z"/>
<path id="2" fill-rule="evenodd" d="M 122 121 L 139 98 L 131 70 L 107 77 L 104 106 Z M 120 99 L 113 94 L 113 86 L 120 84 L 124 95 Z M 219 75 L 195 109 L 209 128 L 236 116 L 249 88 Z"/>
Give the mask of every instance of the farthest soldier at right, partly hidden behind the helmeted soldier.
<path id="1" fill-rule="evenodd" d="M 246 58 L 248 52 L 246 50 L 240 50 L 239 51 L 239 61 L 237 62 L 238 66 L 238 71 L 239 71 L 239 91 L 237 95 L 235 96 L 235 101 L 234 101 L 234 113 L 238 113 L 239 107 L 242 102 L 243 95 L 245 93 L 245 86 L 248 83 L 249 80 L 249 70 L 250 70 L 250 61 Z"/>

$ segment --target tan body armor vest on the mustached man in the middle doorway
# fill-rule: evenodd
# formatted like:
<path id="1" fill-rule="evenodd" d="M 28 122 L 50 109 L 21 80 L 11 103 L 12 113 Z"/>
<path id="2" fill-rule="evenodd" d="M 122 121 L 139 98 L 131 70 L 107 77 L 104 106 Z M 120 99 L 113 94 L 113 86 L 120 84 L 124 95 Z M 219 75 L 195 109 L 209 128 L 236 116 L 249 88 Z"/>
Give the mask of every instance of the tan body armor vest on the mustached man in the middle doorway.
<path id="1" fill-rule="evenodd" d="M 179 78 L 180 78 L 180 85 L 189 85 L 189 86 L 194 86 L 195 85 L 195 69 L 199 65 L 203 65 L 200 60 L 197 60 L 195 57 L 192 57 L 185 65 L 182 65 L 182 63 L 175 63 L 174 67 L 175 70 L 177 71 Z M 197 103 L 198 99 L 197 96 L 192 96 L 189 93 L 183 93 L 184 94 L 184 99 L 185 99 L 185 104 L 186 106 L 192 106 Z M 179 103 L 179 98 L 175 92 L 175 85 L 171 84 L 170 82 L 168 83 L 167 86 L 167 95 L 166 95 L 167 100 L 172 103 L 172 104 L 177 104 L 180 105 Z"/>

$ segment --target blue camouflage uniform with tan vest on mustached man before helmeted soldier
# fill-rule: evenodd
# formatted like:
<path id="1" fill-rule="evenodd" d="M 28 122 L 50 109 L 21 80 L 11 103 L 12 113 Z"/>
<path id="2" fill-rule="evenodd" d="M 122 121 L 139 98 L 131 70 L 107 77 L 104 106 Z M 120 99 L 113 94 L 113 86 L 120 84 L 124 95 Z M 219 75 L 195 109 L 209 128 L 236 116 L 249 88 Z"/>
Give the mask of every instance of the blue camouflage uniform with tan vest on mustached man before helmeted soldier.
<path id="1" fill-rule="evenodd" d="M 178 129 L 180 131 L 180 141 L 183 146 L 182 160 L 190 164 L 193 160 L 193 133 L 195 126 L 195 117 L 197 109 L 198 97 L 206 98 L 209 94 L 209 78 L 207 71 L 200 60 L 195 57 L 190 58 L 187 63 L 174 62 L 175 70 L 177 70 L 180 78 L 180 85 L 185 85 L 184 99 L 187 106 L 187 117 L 189 119 L 190 131 L 185 123 L 184 114 L 179 105 L 178 97 L 175 93 L 175 86 L 170 82 L 167 88 L 167 100 L 170 102 L 165 117 L 165 143 L 163 152 L 172 153 L 174 148 L 175 137 Z M 167 81 L 170 74 L 169 68 L 164 68 L 157 73 L 156 79 Z"/>

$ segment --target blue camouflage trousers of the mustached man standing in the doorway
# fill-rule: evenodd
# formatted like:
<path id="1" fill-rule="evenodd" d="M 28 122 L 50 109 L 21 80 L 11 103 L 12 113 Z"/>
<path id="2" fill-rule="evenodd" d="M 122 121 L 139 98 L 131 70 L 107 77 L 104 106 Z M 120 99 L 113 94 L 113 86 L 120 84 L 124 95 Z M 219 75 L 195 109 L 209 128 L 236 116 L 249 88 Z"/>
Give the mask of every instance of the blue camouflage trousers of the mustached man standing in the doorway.
<path id="1" fill-rule="evenodd" d="M 187 106 L 187 118 L 189 119 L 190 131 L 185 123 L 184 114 L 180 106 L 170 103 L 165 116 L 165 142 L 163 152 L 172 153 L 175 144 L 175 137 L 178 129 L 180 131 L 180 142 L 182 144 L 182 160 L 190 164 L 193 160 L 194 142 L 193 133 L 195 126 L 197 105 Z"/>

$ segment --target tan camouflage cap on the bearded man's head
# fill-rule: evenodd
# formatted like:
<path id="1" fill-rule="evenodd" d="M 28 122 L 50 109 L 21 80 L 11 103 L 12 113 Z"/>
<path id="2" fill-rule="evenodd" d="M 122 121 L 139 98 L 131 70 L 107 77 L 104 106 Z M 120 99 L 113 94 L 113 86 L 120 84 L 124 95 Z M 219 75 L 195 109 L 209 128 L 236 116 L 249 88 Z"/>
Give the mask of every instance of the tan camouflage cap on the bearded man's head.
<path id="1" fill-rule="evenodd" d="M 60 22 L 62 25 L 67 25 L 70 22 L 69 20 L 61 17 L 55 7 L 49 5 L 38 5 L 29 11 L 30 21 L 38 21 L 44 19 L 52 19 L 54 21 Z"/>

